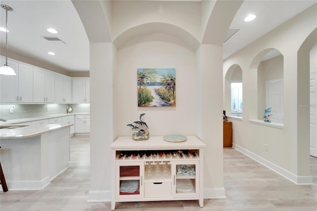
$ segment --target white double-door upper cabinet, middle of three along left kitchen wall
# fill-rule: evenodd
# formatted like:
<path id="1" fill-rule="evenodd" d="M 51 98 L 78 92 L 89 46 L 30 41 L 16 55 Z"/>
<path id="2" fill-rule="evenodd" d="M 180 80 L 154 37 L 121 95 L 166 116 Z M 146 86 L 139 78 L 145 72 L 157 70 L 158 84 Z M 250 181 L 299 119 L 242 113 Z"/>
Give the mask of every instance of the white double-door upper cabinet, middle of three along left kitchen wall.
<path id="1" fill-rule="evenodd" d="M 54 73 L 44 69 L 33 69 L 33 103 L 54 102 Z"/>

